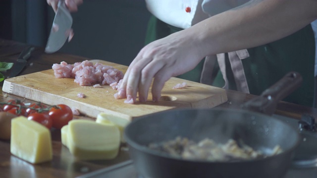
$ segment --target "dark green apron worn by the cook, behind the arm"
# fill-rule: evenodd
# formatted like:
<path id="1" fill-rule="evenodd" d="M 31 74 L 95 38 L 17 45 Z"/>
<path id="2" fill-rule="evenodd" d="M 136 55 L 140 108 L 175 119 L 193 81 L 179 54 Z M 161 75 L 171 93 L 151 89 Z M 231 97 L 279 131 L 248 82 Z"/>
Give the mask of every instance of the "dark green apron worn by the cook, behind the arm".
<path id="1" fill-rule="evenodd" d="M 145 44 L 164 38 L 179 28 L 172 27 L 152 16 L 148 24 Z M 260 95 L 290 71 L 299 72 L 303 77 L 302 86 L 287 96 L 284 101 L 313 106 L 315 39 L 311 25 L 281 40 L 249 48 L 250 57 L 242 59 L 245 75 L 251 94 Z M 225 57 L 229 89 L 236 90 L 228 56 Z M 204 60 L 193 70 L 177 76 L 181 79 L 200 82 Z M 212 86 L 223 87 L 224 80 L 216 64 L 213 70 L 216 76 Z"/>

